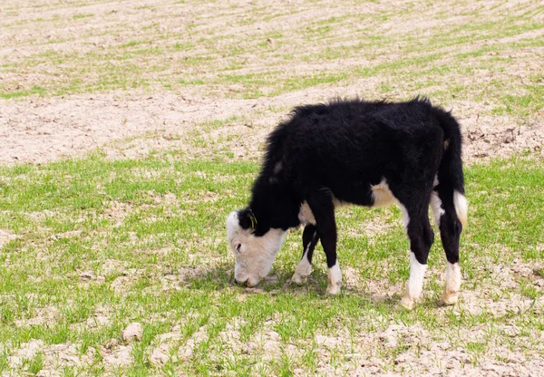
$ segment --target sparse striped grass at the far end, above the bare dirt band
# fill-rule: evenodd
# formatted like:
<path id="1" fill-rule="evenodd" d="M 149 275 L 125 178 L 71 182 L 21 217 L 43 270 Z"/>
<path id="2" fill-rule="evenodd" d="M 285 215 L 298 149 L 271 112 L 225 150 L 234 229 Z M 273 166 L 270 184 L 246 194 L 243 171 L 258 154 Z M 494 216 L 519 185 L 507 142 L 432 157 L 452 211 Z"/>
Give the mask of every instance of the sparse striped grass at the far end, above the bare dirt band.
<path id="1" fill-rule="evenodd" d="M 73 13 L 39 23 L 32 9 L 27 16 L 6 9 L 1 27 L 11 36 L 7 46 L 25 53 L 5 56 L 0 98 L 121 89 L 251 99 L 355 85 L 370 97 L 420 92 L 446 105 L 459 98 L 496 103 L 482 107 L 490 115 L 526 116 L 544 103 L 538 82 L 524 85 L 524 77 L 539 74 L 537 66 L 526 63 L 539 60 L 542 46 L 544 9 L 538 1 L 508 12 L 500 3 L 217 4 L 213 14 L 198 1 L 165 3 L 153 5 L 153 12 L 146 12 L 147 5 L 137 7 L 134 22 L 143 30 L 117 23 L 118 14 L 106 8 L 78 12 L 76 6 L 87 3 L 74 2 Z M 179 13 L 185 14 L 181 20 Z M 97 18 L 108 27 L 89 27 Z M 45 30 L 73 27 L 81 33 L 16 39 L 31 22 Z M 63 48 L 74 41 L 82 47 Z M 36 66 L 43 74 L 22 81 Z M 463 83 L 461 96 L 453 96 L 460 76 L 471 80 Z M 378 82 L 368 82 L 369 77 Z"/>

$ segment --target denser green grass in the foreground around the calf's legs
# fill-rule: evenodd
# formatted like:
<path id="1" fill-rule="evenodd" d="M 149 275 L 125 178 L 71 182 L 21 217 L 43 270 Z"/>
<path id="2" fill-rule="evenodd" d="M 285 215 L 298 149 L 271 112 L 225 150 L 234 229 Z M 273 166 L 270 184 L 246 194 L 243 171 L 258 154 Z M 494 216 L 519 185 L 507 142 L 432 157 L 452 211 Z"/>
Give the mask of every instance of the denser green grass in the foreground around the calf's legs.
<path id="1" fill-rule="evenodd" d="M 42 352 L 47 353 L 54 344 L 74 344 L 78 357 L 87 360 L 75 372 L 99 371 L 108 367 L 104 345 L 112 338 L 121 342 L 121 330 L 137 321 L 143 324 L 143 339 L 131 348 L 131 362 L 119 370 L 129 375 L 160 368 L 173 374 L 290 375 L 297 368 L 315 370 L 324 354 L 337 371 L 347 371 L 345 354 L 374 351 L 384 360 L 383 372 L 399 372 L 394 360 L 411 352 L 417 339 L 408 334 L 406 346 L 393 351 L 374 339 L 369 341 L 372 351 L 357 337 L 384 332 L 390 324 L 419 326 L 427 334 L 426 342 L 446 337 L 452 349 L 464 349 L 471 362 L 478 362 L 494 357 L 490 344 L 502 339 L 500 329 L 505 326 L 528 334 L 535 326 L 544 328 L 541 305 L 523 309 L 523 315 L 510 314 L 516 305 L 524 305 L 524 298 L 539 302 L 542 297 L 538 272 L 524 276 L 510 270 L 514 263 L 535 266 L 544 258 L 539 228 L 544 215 L 535 210 L 544 205 L 539 189 L 542 160 L 519 156 L 466 170 L 471 203 L 471 225 L 461 247 L 466 276 L 461 297 L 467 296 L 466 304 L 456 309 L 435 306 L 445 264 L 437 242 L 423 303 L 412 313 L 399 313 L 393 306 L 408 277 L 403 253 L 408 243 L 397 208 L 339 212 L 340 264 L 353 275 L 343 295 L 324 295 L 320 250 L 308 285 L 285 286 L 301 254 L 300 230 L 290 232 L 277 257 L 276 280 L 264 283 L 262 293 L 251 293 L 232 284 L 233 258 L 224 239 L 224 219 L 247 202 L 258 166 L 171 157 L 109 161 L 94 155 L 41 167 L 0 168 L 0 228 L 17 235 L 0 252 L 3 349 L 9 353 L 11 347 L 42 340 Z M 389 226 L 373 234 L 365 230 L 369 223 Z M 515 284 L 497 291 L 493 266 L 510 271 Z M 377 299 L 382 290 L 393 296 Z M 496 302 L 510 309 L 486 307 L 491 292 Z M 474 303 L 483 306 L 471 312 Z M 58 313 L 50 318 L 46 312 L 52 306 Z M 98 324 L 99 312 L 108 317 L 105 324 Z M 42 323 L 35 320 L 38 317 L 50 319 Z M 167 342 L 170 362 L 157 369 L 149 357 L 160 345 L 160 334 L 176 325 L 178 336 Z M 487 332 L 489 339 L 466 343 L 460 329 Z M 344 332 L 343 343 L 332 348 L 326 341 L 316 343 L 317 334 L 326 340 L 338 336 L 339 330 Z M 527 335 L 509 342 L 516 347 L 537 340 Z M 277 356 L 267 363 L 270 352 Z M 9 371 L 2 360 L 0 368 Z M 18 370 L 35 373 L 43 363 L 44 355 L 37 353 Z"/>

